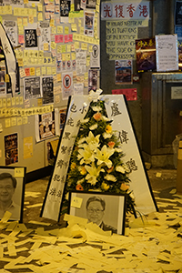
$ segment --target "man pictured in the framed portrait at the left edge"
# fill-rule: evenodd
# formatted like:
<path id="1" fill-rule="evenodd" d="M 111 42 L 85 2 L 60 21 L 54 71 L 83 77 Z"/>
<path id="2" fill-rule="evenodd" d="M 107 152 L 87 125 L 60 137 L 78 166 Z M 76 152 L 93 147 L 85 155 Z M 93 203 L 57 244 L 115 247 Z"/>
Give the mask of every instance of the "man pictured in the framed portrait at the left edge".
<path id="1" fill-rule="evenodd" d="M 13 201 L 13 195 L 17 181 L 9 173 L 0 174 L 0 218 L 5 214 L 5 211 L 12 213 L 11 218 L 18 219 L 20 216 L 20 207 Z"/>

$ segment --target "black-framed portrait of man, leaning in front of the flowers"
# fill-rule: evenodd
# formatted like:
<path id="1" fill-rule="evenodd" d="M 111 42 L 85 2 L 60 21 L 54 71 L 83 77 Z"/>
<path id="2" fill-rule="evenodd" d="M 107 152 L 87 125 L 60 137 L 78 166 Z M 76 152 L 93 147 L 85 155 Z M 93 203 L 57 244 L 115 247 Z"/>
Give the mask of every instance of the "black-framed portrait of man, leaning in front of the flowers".
<path id="1" fill-rule="evenodd" d="M 106 192 L 70 192 L 69 214 L 87 218 L 104 231 L 125 234 L 126 196 Z"/>

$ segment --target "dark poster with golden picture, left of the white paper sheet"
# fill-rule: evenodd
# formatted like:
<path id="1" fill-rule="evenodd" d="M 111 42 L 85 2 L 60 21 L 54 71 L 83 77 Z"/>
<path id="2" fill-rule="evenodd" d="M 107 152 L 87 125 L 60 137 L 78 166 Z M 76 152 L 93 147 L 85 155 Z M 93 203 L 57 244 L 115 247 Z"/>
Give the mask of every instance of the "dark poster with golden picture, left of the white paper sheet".
<path id="1" fill-rule="evenodd" d="M 138 72 L 157 70 L 155 38 L 136 40 L 136 67 Z"/>

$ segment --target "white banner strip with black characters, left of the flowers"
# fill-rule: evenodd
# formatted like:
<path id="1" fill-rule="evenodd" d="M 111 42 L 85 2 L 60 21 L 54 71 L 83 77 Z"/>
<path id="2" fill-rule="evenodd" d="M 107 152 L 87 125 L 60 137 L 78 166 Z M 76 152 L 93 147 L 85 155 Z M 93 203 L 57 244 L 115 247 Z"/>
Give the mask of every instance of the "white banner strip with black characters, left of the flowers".
<path id="1" fill-rule="evenodd" d="M 89 105 L 88 96 L 71 97 L 65 129 L 58 147 L 56 165 L 49 181 L 45 204 L 41 213 L 42 217 L 56 221 L 59 218 L 60 206 L 66 184 L 67 169 L 79 130 L 79 121 L 86 116 Z"/>

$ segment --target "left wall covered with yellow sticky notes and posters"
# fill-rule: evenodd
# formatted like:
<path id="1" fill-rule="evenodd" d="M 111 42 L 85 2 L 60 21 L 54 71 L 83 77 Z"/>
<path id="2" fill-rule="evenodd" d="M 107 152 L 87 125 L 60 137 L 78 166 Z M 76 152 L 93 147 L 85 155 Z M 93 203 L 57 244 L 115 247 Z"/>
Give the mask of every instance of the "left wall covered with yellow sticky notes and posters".
<path id="1" fill-rule="evenodd" d="M 99 87 L 99 12 L 94 0 L 0 2 L 15 51 L 13 78 L 0 35 L 0 166 L 32 172 L 53 161 L 68 96 Z"/>

